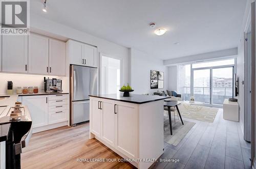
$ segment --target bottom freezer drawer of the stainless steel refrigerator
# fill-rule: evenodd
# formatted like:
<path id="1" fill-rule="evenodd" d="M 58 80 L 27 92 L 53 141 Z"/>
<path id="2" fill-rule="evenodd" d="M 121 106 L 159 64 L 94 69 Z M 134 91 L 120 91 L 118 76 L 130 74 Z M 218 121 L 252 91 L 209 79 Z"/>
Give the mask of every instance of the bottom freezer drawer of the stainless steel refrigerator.
<path id="1" fill-rule="evenodd" d="M 74 101 L 73 104 L 73 124 L 90 120 L 90 101 Z"/>

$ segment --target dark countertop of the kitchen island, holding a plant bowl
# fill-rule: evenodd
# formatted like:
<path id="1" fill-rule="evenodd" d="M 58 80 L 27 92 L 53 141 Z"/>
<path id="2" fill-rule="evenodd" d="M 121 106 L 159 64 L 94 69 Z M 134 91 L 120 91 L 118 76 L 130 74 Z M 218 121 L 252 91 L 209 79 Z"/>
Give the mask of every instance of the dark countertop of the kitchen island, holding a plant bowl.
<path id="1" fill-rule="evenodd" d="M 136 95 L 130 94 L 130 97 L 123 97 L 123 93 L 120 94 L 107 94 L 107 95 L 89 95 L 90 97 L 98 97 L 103 99 L 111 99 L 135 104 L 143 104 L 158 100 L 164 100 L 170 98 L 169 96 L 157 96 L 157 95 Z"/>

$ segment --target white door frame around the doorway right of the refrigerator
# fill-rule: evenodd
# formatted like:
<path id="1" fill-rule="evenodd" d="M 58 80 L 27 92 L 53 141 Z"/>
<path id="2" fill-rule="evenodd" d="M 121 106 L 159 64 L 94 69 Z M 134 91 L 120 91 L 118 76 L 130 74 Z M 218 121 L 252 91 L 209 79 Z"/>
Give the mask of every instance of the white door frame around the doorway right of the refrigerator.
<path id="1" fill-rule="evenodd" d="M 100 52 L 99 53 L 99 82 L 100 82 L 99 91 L 100 91 L 100 94 L 102 94 L 101 93 L 101 84 L 102 84 L 102 80 L 101 80 L 102 66 L 101 66 L 101 64 L 102 64 L 102 57 L 112 58 L 112 59 L 116 59 L 116 60 L 120 61 L 120 87 L 123 85 L 123 59 L 122 58 L 118 58 L 116 56 L 113 56 L 111 54 L 106 54 L 106 53 Z"/>

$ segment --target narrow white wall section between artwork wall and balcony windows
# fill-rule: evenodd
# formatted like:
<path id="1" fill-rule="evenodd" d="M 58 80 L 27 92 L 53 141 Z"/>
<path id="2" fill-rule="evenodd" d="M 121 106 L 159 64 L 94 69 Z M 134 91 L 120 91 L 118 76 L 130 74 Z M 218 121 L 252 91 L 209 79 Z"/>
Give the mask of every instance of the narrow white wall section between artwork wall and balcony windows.
<path id="1" fill-rule="evenodd" d="M 177 73 L 177 66 L 168 67 L 168 90 L 170 91 L 178 91 Z"/>

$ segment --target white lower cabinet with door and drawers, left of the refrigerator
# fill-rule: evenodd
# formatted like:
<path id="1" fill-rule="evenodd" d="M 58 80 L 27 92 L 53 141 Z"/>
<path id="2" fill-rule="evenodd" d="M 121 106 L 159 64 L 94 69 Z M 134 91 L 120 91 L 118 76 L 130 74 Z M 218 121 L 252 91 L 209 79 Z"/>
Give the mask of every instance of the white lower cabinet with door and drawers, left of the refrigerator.
<path id="1" fill-rule="evenodd" d="M 33 133 L 69 125 L 69 95 L 22 96 L 33 125 Z"/>

